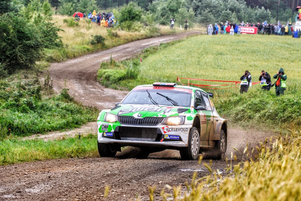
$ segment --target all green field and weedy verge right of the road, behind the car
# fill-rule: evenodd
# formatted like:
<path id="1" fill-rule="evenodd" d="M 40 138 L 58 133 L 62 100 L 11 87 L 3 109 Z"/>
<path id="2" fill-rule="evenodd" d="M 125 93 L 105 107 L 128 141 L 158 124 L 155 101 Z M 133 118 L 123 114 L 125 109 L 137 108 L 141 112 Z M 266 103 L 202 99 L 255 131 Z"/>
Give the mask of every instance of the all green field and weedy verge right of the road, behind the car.
<path id="1" fill-rule="evenodd" d="M 282 67 L 288 77 L 284 97 L 276 98 L 274 88 L 261 92 L 259 84 L 253 85 L 243 96 L 239 94 L 239 85 L 237 92 L 235 89 L 206 90 L 215 93 L 213 102 L 219 114 L 231 123 L 239 125 L 244 122 L 244 126 L 264 126 L 279 131 L 292 124 L 301 126 L 298 118 L 301 111 L 298 49 L 301 49 L 301 44 L 292 37 L 193 36 L 144 50 L 150 54 L 144 56 L 142 52 L 142 65 L 138 58 L 117 62 L 117 68 L 102 63 L 98 79 L 107 87 L 131 90 L 140 84 L 176 82 L 177 77 L 239 81 L 244 71 L 249 70 L 253 82 L 257 82 L 262 70 L 272 77 Z M 120 76 L 123 73 L 120 69 L 134 69 L 136 74 L 132 77 Z M 187 83 L 187 80 L 182 81 Z M 221 84 L 194 80 L 190 83 Z"/>

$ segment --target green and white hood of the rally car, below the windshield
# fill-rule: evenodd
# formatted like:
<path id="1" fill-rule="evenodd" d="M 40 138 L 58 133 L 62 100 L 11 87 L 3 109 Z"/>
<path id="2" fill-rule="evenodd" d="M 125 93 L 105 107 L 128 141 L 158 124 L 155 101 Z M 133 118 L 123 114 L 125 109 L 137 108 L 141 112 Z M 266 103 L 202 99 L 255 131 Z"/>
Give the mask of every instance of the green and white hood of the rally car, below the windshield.
<path id="1" fill-rule="evenodd" d="M 144 117 L 170 117 L 190 113 L 191 108 L 166 105 L 131 105 L 122 104 L 112 108 L 110 113 L 121 116 Z"/>

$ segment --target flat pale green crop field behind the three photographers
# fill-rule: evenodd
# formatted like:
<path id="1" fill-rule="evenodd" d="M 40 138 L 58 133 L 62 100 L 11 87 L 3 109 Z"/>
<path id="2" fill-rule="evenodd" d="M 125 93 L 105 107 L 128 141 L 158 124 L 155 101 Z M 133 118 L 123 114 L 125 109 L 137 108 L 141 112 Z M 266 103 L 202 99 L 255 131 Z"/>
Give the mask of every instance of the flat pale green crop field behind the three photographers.
<path id="1" fill-rule="evenodd" d="M 145 58 L 138 78 L 127 85 L 132 88 L 158 81 L 176 82 L 177 76 L 239 81 L 245 70 L 251 72 L 252 80 L 256 82 L 262 70 L 273 76 L 279 68 L 284 68 L 288 86 L 300 86 L 300 49 L 300 40 L 290 36 L 194 36 Z"/>

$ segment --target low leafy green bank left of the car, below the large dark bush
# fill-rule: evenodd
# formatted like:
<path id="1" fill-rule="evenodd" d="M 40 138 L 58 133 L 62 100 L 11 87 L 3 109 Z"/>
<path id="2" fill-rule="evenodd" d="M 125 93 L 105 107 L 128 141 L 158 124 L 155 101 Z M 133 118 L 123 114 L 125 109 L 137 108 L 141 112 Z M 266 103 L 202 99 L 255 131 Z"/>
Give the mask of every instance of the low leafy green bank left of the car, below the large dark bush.
<path id="1" fill-rule="evenodd" d="M 49 94 L 49 84 L 42 86 L 38 77 L 0 80 L 0 125 L 6 134 L 26 136 L 74 128 L 95 119 L 97 110 L 74 102 L 67 89 L 44 98 L 42 92 Z"/>

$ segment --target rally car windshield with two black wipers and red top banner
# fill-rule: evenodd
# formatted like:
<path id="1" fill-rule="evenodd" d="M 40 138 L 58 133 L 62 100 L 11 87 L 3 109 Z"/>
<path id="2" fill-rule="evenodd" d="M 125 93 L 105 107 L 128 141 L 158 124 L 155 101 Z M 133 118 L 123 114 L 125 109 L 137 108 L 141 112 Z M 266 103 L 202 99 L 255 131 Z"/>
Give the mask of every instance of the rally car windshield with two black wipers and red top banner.
<path id="1" fill-rule="evenodd" d="M 149 97 L 147 91 L 150 93 L 151 98 Z M 191 90 L 188 90 L 191 91 Z M 155 102 L 158 105 L 171 105 L 174 106 L 172 101 L 167 100 L 166 97 L 163 97 L 158 93 L 167 96 L 169 99 L 177 102 L 179 106 L 190 107 L 191 103 L 191 93 L 186 91 L 178 90 L 158 90 L 158 89 L 141 89 L 133 90 L 122 102 L 122 104 L 153 104 Z M 151 100 L 152 99 L 152 100 Z"/>

